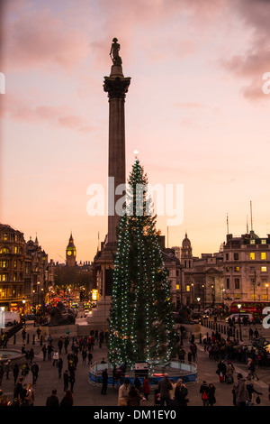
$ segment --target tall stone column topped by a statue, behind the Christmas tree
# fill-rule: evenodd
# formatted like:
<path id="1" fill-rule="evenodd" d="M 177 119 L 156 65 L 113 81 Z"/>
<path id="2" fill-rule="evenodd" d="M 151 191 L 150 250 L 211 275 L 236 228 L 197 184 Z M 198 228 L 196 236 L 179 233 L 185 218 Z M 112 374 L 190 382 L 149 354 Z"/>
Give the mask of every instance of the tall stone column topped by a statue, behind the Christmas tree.
<path id="1" fill-rule="evenodd" d="M 120 216 L 115 212 L 117 200 L 124 192 L 115 189 L 126 182 L 125 158 L 125 113 L 126 93 L 130 86 L 130 78 L 122 73 L 120 44 L 114 38 L 110 56 L 112 68 L 110 77 L 104 77 L 103 89 L 109 97 L 109 157 L 108 157 L 108 233 L 102 243 L 101 250 L 94 257 L 94 273 L 99 293 L 96 309 L 93 309 L 89 323 L 108 328 L 112 296 L 113 255 L 117 248 L 116 230 Z M 88 319 L 87 319 L 88 320 Z"/>

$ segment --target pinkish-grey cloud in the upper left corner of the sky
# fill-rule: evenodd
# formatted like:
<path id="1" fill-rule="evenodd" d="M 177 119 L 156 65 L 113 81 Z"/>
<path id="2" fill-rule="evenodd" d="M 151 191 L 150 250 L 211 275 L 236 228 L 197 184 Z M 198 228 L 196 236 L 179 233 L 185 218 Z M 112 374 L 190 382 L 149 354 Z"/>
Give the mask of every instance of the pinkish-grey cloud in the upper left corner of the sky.
<path id="1" fill-rule="evenodd" d="M 7 69 L 71 69 L 89 54 L 88 40 L 49 10 L 25 11 L 4 20 L 4 64 Z"/>

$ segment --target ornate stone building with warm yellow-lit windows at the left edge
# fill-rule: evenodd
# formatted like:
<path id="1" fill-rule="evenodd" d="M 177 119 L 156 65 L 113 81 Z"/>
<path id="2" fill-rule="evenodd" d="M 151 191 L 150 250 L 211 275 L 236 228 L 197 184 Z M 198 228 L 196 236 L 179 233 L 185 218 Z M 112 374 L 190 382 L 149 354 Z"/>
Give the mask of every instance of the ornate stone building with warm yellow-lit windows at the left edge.
<path id="1" fill-rule="evenodd" d="M 41 307 L 51 279 L 48 254 L 37 237 L 26 243 L 21 231 L 0 224 L 0 307 L 24 311 Z"/>

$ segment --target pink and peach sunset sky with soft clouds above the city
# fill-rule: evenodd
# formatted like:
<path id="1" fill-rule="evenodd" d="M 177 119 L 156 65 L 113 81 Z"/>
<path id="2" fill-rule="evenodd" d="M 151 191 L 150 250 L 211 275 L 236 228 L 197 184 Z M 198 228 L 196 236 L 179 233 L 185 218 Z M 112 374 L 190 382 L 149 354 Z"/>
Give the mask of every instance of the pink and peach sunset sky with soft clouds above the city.
<path id="1" fill-rule="evenodd" d="M 266 0 L 2 0 L 0 221 L 38 235 L 63 262 L 93 261 L 107 217 L 89 217 L 90 184 L 107 185 L 103 77 L 112 38 L 130 77 L 127 175 L 139 151 L 150 184 L 184 184 L 193 254 L 227 233 L 270 233 L 270 2 Z M 157 226 L 167 233 L 167 217 Z"/>

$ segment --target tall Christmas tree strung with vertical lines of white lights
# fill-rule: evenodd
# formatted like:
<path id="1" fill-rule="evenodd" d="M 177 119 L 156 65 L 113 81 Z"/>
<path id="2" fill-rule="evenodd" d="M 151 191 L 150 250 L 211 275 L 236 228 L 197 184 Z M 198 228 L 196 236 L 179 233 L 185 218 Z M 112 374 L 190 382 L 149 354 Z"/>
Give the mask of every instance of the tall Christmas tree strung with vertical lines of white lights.
<path id="1" fill-rule="evenodd" d="M 136 159 L 118 228 L 114 259 L 109 358 L 113 364 L 169 361 L 174 319 L 170 287 L 149 213 L 148 179 Z"/>

